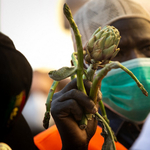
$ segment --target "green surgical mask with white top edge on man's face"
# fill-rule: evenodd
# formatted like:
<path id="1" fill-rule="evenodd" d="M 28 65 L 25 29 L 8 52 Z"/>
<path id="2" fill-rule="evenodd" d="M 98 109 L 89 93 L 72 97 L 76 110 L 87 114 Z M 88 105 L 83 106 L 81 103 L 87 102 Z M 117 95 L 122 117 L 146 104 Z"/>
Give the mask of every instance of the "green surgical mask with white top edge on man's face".
<path id="1" fill-rule="evenodd" d="M 150 58 L 123 62 L 150 93 Z M 113 69 L 102 80 L 104 104 L 117 114 L 134 122 L 142 122 L 150 112 L 150 97 L 143 95 L 136 82 L 122 69 Z"/>

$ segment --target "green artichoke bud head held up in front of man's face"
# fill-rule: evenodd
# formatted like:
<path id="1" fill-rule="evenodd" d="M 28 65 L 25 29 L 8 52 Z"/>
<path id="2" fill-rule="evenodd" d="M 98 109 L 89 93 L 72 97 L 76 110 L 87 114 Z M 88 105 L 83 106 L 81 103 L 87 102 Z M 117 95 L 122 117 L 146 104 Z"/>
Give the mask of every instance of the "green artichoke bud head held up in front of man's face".
<path id="1" fill-rule="evenodd" d="M 98 28 L 86 45 L 87 62 L 93 59 L 103 64 L 114 58 L 119 52 L 117 47 L 120 38 L 119 31 L 113 26 L 106 26 L 102 30 Z"/>

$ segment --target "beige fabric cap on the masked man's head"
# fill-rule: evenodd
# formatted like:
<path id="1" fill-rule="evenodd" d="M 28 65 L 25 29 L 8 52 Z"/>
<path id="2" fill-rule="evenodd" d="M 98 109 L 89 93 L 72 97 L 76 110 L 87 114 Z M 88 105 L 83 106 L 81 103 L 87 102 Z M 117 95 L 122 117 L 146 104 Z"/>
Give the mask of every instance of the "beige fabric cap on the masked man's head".
<path id="1" fill-rule="evenodd" d="M 98 27 L 111 25 L 122 18 L 143 18 L 150 21 L 148 12 L 131 0 L 90 0 L 75 14 L 82 41 L 87 41 Z"/>

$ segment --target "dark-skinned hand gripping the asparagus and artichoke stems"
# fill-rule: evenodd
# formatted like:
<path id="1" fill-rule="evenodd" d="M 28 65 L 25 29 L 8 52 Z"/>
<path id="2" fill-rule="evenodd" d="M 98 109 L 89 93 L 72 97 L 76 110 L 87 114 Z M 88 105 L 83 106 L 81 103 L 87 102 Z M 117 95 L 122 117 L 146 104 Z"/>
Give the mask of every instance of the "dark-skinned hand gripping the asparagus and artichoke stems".
<path id="1" fill-rule="evenodd" d="M 91 83 L 84 81 L 87 93 Z M 101 94 L 98 94 L 98 100 Z M 55 120 L 62 139 L 62 150 L 87 150 L 88 143 L 94 135 L 97 120 L 88 121 L 87 128 L 81 130 L 79 122 L 84 112 L 95 114 L 98 111 L 94 102 L 83 92 L 77 90 L 76 79 L 60 92 L 55 93 L 51 104 L 51 114 Z"/>

